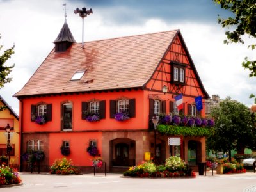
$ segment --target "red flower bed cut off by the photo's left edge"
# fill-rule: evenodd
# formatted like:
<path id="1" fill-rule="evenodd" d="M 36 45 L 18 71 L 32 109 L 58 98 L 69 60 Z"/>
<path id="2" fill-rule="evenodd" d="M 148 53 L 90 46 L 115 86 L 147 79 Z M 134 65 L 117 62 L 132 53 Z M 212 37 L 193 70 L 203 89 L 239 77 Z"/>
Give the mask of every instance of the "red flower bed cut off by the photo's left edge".
<path id="1" fill-rule="evenodd" d="M 2 166 L 0 167 L 0 186 L 19 184 L 20 182 L 21 178 L 17 169 L 12 169 L 2 164 Z"/>

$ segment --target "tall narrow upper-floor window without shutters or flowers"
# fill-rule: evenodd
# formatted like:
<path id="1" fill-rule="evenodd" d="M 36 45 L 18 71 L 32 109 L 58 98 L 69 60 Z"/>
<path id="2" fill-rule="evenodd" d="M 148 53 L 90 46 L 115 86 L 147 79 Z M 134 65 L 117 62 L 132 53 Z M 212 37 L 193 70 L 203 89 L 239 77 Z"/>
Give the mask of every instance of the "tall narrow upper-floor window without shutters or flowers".
<path id="1" fill-rule="evenodd" d="M 72 129 L 72 103 L 62 104 L 62 129 Z"/>

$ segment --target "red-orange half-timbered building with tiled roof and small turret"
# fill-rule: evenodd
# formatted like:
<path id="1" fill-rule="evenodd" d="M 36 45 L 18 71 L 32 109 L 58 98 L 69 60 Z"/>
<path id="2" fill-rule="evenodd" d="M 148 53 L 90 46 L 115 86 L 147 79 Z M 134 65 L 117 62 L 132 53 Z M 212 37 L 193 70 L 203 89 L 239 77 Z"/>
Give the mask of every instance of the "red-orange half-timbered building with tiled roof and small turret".
<path id="1" fill-rule="evenodd" d="M 68 159 L 92 171 L 86 148 L 96 145 L 108 171 L 114 172 L 141 163 L 145 152 L 159 161 L 179 155 L 188 163 L 193 159 L 188 145 L 193 142 L 195 161 L 205 161 L 204 136 L 180 136 L 182 143 L 175 147 L 168 145 L 170 136 L 157 132 L 154 142 L 154 114 L 196 115 L 195 97 L 201 95 L 203 102 L 209 98 L 179 29 L 85 42 L 82 47 L 65 22 L 54 44 L 15 94 L 20 100 L 21 153 L 43 150 L 41 166 L 47 170 L 63 157 L 64 145 L 70 148 Z M 174 99 L 179 94 L 181 111 Z M 115 119 L 122 111 L 128 120 Z M 204 116 L 204 109 L 200 112 Z M 44 120 L 38 120 L 40 116 Z"/>

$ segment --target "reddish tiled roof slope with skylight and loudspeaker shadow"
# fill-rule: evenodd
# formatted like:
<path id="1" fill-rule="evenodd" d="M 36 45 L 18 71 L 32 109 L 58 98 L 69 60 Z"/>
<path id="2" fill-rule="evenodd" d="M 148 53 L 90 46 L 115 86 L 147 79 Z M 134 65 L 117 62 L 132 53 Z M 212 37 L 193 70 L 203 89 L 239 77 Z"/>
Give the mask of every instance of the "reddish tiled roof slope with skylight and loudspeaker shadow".
<path id="1" fill-rule="evenodd" d="M 72 44 L 65 52 L 52 49 L 14 96 L 142 87 L 178 31 L 85 42 L 84 49 Z M 70 81 L 81 70 L 86 70 L 82 79 Z"/>

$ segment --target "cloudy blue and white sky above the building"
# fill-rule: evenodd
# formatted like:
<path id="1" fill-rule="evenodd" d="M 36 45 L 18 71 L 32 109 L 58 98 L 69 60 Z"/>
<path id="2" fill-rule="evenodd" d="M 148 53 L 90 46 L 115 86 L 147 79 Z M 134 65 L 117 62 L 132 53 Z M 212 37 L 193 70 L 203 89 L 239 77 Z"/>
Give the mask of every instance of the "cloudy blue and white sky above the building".
<path id="1" fill-rule="evenodd" d="M 101 40 L 180 29 L 198 74 L 209 95 L 227 96 L 251 106 L 256 79 L 241 63 L 245 56 L 253 58 L 245 44 L 223 44 L 225 31 L 217 22 L 218 14 L 228 17 L 211 0 L 0 0 L 0 45 L 3 51 L 15 44 L 12 83 L 0 89 L 0 95 L 19 113 L 19 100 L 12 97 L 33 75 L 53 49 L 65 20 L 77 42 L 82 41 L 82 19 L 74 9 L 92 8 L 84 19 L 84 40 Z M 254 52 L 255 55 L 255 52 Z"/>

